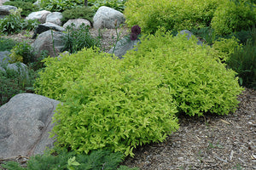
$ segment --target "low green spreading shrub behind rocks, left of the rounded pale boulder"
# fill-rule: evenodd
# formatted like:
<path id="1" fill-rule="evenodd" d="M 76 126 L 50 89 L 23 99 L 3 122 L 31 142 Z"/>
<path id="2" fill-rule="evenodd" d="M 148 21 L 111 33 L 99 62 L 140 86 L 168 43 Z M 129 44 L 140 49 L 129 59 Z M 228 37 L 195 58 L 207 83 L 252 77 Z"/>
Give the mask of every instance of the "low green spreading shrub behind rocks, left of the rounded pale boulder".
<path id="1" fill-rule="evenodd" d="M 75 7 L 71 9 L 67 9 L 63 11 L 61 19 L 62 23 L 67 22 L 67 20 L 71 19 L 85 19 L 89 20 L 92 23 L 92 18 L 94 16 L 95 12 L 89 8 L 89 7 Z"/>

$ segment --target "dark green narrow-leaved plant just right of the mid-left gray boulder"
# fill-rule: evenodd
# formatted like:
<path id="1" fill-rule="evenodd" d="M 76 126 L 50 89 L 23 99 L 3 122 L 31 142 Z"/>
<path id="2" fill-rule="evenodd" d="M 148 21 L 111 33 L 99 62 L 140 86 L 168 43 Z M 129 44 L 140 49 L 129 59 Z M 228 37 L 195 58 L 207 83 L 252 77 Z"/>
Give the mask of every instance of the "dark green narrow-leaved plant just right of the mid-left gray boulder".
<path id="1" fill-rule="evenodd" d="M 63 37 L 65 39 L 64 51 L 70 53 L 76 53 L 82 48 L 96 48 L 100 43 L 94 37 L 90 36 L 89 26 L 82 24 L 79 26 L 79 30 L 75 29 L 75 26 L 67 27 L 67 34 Z"/>

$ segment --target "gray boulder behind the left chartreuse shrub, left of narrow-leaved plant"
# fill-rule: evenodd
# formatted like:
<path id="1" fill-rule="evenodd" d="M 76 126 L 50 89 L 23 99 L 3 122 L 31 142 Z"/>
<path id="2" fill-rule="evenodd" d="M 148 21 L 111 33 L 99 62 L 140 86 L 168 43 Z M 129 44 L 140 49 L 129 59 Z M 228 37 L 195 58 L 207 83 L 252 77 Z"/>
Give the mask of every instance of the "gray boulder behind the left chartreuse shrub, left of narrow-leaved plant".
<path id="1" fill-rule="evenodd" d="M 53 37 L 52 37 L 53 33 Z M 44 31 L 43 33 L 39 34 L 36 41 L 32 43 L 32 48 L 34 48 L 34 52 L 38 54 L 37 57 L 39 57 L 39 54 L 43 51 L 47 51 L 49 56 L 56 57 L 58 54 L 60 54 L 65 46 L 65 40 L 63 39 L 63 36 L 66 34 L 59 31 Z M 53 48 L 53 42 L 54 42 L 54 48 Z"/>

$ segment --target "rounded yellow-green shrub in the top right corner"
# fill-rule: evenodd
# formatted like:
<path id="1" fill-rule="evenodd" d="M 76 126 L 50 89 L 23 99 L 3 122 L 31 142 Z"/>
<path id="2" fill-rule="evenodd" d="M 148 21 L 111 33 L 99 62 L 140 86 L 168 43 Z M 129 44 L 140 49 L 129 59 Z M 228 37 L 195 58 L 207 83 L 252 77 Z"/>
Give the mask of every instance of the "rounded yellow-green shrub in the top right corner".
<path id="1" fill-rule="evenodd" d="M 211 26 L 218 35 L 227 35 L 255 26 L 256 8 L 253 8 L 247 0 L 236 2 L 226 1 L 217 8 Z"/>

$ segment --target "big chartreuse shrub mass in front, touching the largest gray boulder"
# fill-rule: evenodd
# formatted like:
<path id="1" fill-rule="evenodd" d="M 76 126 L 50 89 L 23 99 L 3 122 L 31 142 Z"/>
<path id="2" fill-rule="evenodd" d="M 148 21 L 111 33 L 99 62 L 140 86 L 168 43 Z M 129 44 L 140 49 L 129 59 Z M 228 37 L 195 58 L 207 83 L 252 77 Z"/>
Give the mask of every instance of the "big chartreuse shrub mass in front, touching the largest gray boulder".
<path id="1" fill-rule="evenodd" d="M 54 116 L 58 144 L 132 156 L 137 145 L 163 141 L 177 129 L 176 106 L 169 88 L 160 87 L 160 73 L 125 67 L 110 56 L 84 48 L 60 60 L 45 59 L 37 92 L 64 101 Z"/>

